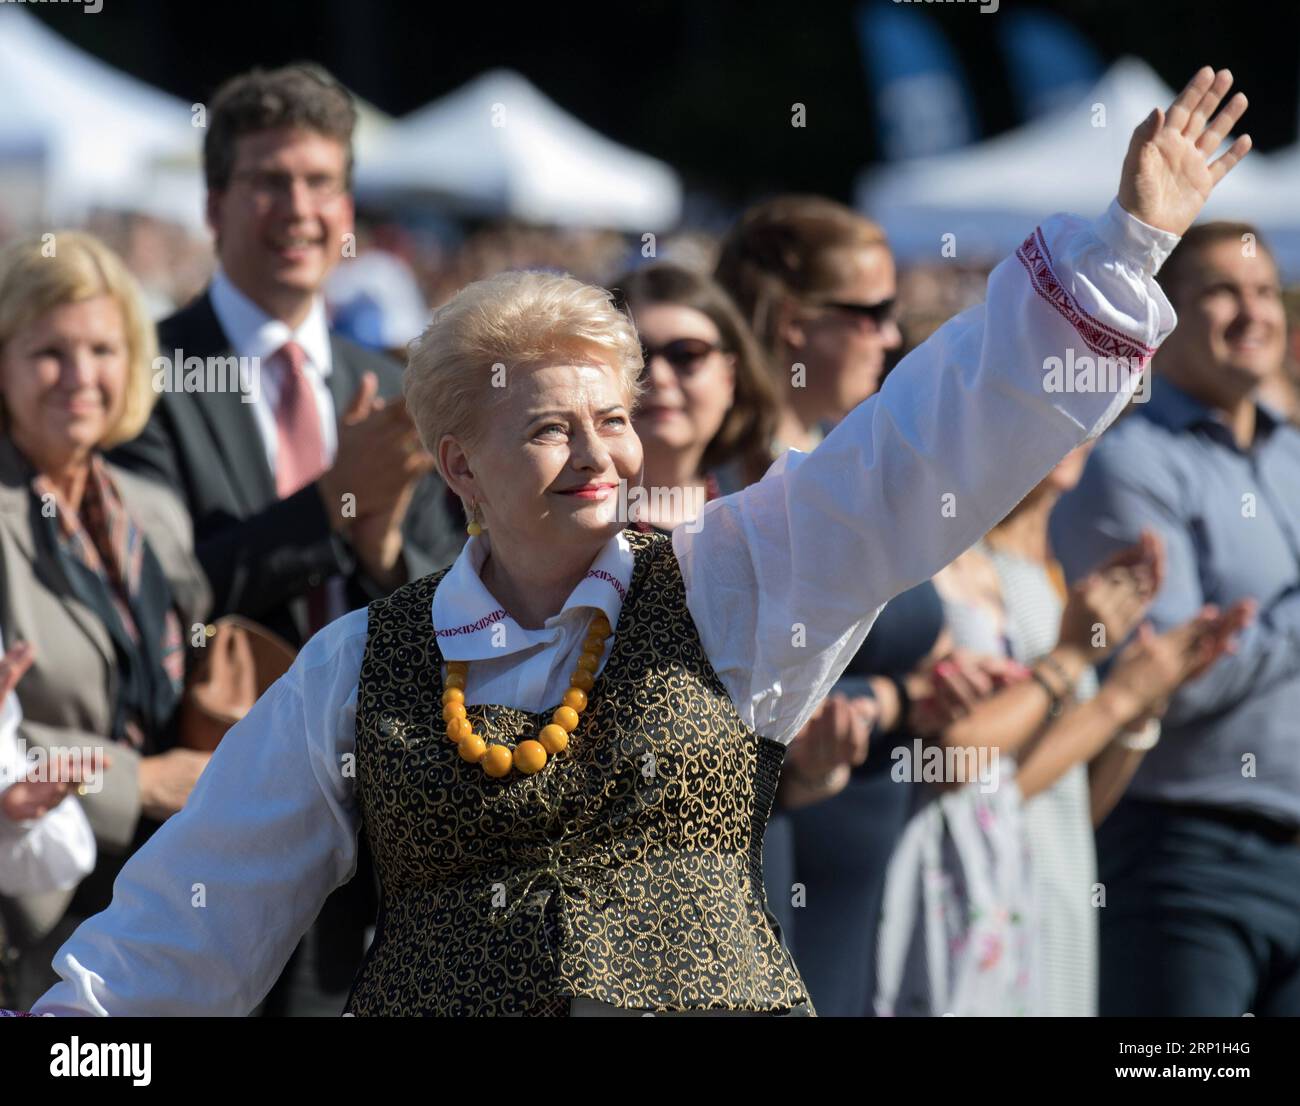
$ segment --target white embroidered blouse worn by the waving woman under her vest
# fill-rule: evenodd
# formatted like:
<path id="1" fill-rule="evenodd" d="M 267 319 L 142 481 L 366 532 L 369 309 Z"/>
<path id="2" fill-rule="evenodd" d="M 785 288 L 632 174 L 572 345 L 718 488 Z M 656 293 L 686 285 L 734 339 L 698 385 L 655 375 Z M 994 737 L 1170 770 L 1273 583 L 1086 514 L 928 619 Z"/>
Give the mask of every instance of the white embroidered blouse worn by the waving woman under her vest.
<path id="1" fill-rule="evenodd" d="M 673 532 L 686 606 L 746 725 L 789 742 L 889 598 L 968 548 L 1118 416 L 1136 382 L 1121 394 L 1052 391 L 1044 360 L 1067 350 L 1147 359 L 1174 326 L 1153 273 L 1176 240 L 1118 203 L 1092 224 L 1053 217 L 993 270 L 987 304 L 910 354 L 815 451 L 785 454 L 757 485 L 708 503 L 698 529 Z M 611 538 L 536 630 L 482 586 L 482 559 L 471 541 L 434 594 L 439 646 L 474 662 L 469 703 L 546 710 L 595 611 L 618 634 L 627 541 Z M 364 610 L 325 628 L 226 734 L 185 810 L 122 869 L 109 908 L 60 949 L 64 981 L 36 1012 L 256 1006 L 356 864 L 365 641 Z"/>

